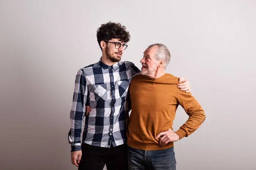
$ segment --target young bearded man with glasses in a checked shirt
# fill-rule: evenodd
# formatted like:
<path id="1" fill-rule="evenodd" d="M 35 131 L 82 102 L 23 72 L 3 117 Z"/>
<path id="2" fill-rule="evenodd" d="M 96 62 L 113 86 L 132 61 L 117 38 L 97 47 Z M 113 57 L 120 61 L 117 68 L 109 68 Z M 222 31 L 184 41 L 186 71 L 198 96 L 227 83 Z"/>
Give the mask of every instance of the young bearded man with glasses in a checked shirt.
<path id="1" fill-rule="evenodd" d="M 108 170 L 125 170 L 128 169 L 126 94 L 132 77 L 140 70 L 132 62 L 119 62 L 130 40 L 125 26 L 111 22 L 102 24 L 97 40 L 102 57 L 99 62 L 81 68 L 76 75 L 68 136 L 71 161 L 79 170 L 102 170 L 105 164 Z M 190 92 L 189 82 L 178 87 Z M 87 115 L 85 105 L 91 107 Z"/>

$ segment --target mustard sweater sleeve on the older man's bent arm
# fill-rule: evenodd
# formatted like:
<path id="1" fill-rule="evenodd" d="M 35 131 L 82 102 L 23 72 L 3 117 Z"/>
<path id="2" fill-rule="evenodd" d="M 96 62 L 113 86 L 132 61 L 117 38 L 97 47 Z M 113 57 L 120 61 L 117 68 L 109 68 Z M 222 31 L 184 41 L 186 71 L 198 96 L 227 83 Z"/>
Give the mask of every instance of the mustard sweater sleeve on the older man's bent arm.
<path id="1" fill-rule="evenodd" d="M 175 132 L 182 139 L 184 136 L 187 137 L 192 134 L 204 122 L 205 114 L 201 105 L 191 93 L 178 90 L 177 101 L 189 115 L 189 119 Z"/>

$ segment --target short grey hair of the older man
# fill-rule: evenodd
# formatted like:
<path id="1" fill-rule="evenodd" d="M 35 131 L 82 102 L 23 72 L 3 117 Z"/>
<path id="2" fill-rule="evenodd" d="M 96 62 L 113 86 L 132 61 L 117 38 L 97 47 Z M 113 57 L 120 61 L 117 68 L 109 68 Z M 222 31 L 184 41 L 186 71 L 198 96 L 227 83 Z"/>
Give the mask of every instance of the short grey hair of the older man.
<path id="1" fill-rule="evenodd" d="M 148 46 L 148 48 L 152 48 L 152 47 L 157 47 L 157 50 L 155 52 L 155 59 L 160 60 L 163 59 L 165 60 L 165 63 L 163 64 L 163 68 L 166 69 L 167 65 L 170 62 L 171 59 L 171 54 L 169 49 L 163 45 L 163 44 L 151 44 Z"/>

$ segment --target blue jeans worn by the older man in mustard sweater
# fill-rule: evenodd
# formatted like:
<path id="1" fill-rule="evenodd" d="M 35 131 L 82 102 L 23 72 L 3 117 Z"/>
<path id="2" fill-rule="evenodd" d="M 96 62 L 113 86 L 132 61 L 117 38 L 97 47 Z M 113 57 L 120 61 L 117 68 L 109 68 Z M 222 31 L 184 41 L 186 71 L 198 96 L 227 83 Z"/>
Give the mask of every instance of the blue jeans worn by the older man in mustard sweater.
<path id="1" fill-rule="evenodd" d="M 129 170 L 176 170 L 173 147 L 164 150 L 139 150 L 127 147 Z"/>

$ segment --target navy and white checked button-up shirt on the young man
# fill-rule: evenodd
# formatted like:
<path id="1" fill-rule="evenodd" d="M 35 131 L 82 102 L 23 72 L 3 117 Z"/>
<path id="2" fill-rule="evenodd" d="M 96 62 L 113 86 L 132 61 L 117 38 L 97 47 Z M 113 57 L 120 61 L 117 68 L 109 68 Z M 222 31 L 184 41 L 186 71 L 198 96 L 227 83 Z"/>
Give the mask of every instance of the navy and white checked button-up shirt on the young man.
<path id="1" fill-rule="evenodd" d="M 99 147 L 126 143 L 126 120 L 130 109 L 126 94 L 132 77 L 139 72 L 132 62 L 116 62 L 108 66 L 101 59 L 78 71 L 68 134 L 71 152 L 81 150 L 84 117 L 82 142 Z M 85 105 L 92 109 L 87 116 Z"/>

